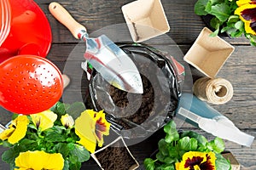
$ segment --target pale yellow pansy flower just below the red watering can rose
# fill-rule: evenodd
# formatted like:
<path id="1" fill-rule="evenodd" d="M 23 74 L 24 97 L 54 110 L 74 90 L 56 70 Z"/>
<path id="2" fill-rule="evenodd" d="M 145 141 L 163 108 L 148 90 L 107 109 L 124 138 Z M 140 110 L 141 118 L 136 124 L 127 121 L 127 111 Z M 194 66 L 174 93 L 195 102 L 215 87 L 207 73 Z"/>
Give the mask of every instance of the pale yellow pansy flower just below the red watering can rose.
<path id="1" fill-rule="evenodd" d="M 40 128 L 41 131 L 44 131 L 50 127 L 53 127 L 57 115 L 53 111 L 43 111 L 37 114 L 32 114 L 32 122 Z"/>

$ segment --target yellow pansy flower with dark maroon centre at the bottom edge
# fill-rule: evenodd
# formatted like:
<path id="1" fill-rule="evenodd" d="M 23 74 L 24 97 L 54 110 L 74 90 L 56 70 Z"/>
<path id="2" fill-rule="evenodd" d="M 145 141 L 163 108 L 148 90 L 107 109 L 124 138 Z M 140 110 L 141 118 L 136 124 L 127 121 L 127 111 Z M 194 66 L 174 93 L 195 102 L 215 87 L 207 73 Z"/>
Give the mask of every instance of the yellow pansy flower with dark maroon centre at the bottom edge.
<path id="1" fill-rule="evenodd" d="M 213 152 L 189 151 L 175 167 L 176 170 L 216 170 L 215 161 L 216 156 Z"/>

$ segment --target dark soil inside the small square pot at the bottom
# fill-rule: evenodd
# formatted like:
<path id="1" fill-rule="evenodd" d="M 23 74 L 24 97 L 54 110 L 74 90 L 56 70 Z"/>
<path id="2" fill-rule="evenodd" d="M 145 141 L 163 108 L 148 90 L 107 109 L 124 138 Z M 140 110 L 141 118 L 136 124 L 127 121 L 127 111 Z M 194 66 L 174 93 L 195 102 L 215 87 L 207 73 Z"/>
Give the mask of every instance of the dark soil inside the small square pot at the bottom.
<path id="1" fill-rule="evenodd" d="M 96 153 L 96 157 L 104 170 L 129 170 L 136 164 L 128 150 L 117 145 L 108 146 L 105 150 Z"/>

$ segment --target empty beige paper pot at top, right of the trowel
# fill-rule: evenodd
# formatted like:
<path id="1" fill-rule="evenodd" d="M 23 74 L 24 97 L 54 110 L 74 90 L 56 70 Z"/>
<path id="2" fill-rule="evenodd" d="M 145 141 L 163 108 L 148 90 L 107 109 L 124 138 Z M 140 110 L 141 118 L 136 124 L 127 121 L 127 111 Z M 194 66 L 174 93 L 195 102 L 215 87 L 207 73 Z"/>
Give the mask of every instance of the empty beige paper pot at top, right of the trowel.
<path id="1" fill-rule="evenodd" d="M 134 42 L 143 42 L 170 30 L 160 0 L 137 0 L 122 7 Z"/>

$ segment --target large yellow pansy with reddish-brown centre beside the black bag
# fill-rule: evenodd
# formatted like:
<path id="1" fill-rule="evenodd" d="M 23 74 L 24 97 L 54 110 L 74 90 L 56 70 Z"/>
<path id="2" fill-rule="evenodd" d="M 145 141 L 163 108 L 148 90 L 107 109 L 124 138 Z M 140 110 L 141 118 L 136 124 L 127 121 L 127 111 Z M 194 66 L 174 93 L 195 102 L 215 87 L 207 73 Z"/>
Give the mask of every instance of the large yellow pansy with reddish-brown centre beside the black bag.
<path id="1" fill-rule="evenodd" d="M 102 147 L 103 135 L 109 134 L 110 123 L 105 119 L 103 111 L 86 110 L 75 121 L 75 133 L 79 136 L 79 144 L 91 153 L 96 150 L 96 142 Z"/>

